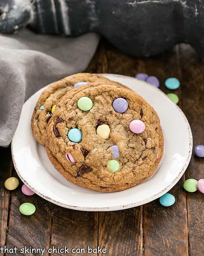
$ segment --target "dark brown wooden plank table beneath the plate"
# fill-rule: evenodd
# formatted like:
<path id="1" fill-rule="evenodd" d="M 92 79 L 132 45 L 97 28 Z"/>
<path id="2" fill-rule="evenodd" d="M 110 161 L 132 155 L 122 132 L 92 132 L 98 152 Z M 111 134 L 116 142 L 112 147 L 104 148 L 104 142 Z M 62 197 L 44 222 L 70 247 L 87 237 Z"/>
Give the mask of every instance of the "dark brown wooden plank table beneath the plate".
<path id="1" fill-rule="evenodd" d="M 134 76 L 144 72 L 155 75 L 164 87 L 168 77 L 180 79 L 176 90 L 179 106 L 187 116 L 193 132 L 193 146 L 204 144 L 204 62 L 185 44 L 150 58 L 134 58 L 119 52 L 104 39 L 100 42 L 87 72 L 116 73 Z M 162 107 L 162 106 L 161 106 Z M 167 113 L 168 115 L 168 113 Z M 191 158 L 181 180 L 171 189 L 176 203 L 163 207 L 159 200 L 139 207 L 115 212 L 80 212 L 64 209 L 37 195 L 26 197 L 21 186 L 7 191 L 4 181 L 16 176 L 11 149 L 0 149 L 0 248 L 106 248 L 104 254 L 69 255 L 138 255 L 138 256 L 203 256 L 204 195 L 187 193 L 183 182 L 188 178 L 204 178 L 204 159 Z M 28 170 L 29 171 L 29 170 Z M 46 182 L 46 181 L 45 181 Z M 22 185 L 22 184 L 21 184 Z M 19 205 L 35 204 L 32 216 L 23 216 Z M 4 253 L 0 255 L 4 255 Z M 39 253 L 5 255 L 40 255 Z M 48 253 L 43 255 L 67 255 Z"/>

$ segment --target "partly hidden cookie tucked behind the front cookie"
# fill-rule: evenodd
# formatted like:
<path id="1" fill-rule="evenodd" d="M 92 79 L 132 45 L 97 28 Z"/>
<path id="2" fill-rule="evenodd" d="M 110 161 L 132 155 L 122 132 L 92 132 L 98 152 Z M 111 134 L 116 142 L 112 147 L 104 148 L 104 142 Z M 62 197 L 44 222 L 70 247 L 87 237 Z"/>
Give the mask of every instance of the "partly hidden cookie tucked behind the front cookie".
<path id="1" fill-rule="evenodd" d="M 89 82 L 107 82 L 109 79 L 99 74 L 79 73 L 67 76 L 50 85 L 40 95 L 31 120 L 31 128 L 37 142 L 45 146 L 44 136 L 50 117 L 59 99 L 73 88 Z"/>

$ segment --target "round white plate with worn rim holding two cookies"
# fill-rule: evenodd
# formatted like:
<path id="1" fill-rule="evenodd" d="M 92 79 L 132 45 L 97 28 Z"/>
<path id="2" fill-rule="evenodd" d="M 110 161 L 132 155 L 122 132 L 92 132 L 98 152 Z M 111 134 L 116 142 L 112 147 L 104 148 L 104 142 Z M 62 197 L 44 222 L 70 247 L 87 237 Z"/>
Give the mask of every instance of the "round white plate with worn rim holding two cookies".
<path id="1" fill-rule="evenodd" d="M 68 182 L 49 162 L 30 128 L 31 116 L 42 88 L 23 105 L 11 143 L 15 169 L 36 194 L 60 206 L 83 211 L 113 211 L 146 204 L 167 193 L 185 172 L 192 154 L 193 138 L 184 113 L 158 88 L 133 77 L 104 74 L 141 95 L 156 110 L 164 133 L 164 156 L 154 175 L 125 191 L 100 193 Z"/>

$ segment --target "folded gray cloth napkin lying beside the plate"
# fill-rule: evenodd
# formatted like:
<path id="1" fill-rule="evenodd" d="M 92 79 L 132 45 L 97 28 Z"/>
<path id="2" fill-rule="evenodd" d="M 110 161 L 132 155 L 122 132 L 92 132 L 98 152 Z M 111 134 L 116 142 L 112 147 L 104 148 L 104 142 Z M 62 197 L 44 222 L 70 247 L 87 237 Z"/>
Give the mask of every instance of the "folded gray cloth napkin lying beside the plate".
<path id="1" fill-rule="evenodd" d="M 27 29 L 0 34 L 0 146 L 10 144 L 24 101 L 43 86 L 84 71 L 98 42 L 94 33 L 77 38 L 38 35 Z"/>

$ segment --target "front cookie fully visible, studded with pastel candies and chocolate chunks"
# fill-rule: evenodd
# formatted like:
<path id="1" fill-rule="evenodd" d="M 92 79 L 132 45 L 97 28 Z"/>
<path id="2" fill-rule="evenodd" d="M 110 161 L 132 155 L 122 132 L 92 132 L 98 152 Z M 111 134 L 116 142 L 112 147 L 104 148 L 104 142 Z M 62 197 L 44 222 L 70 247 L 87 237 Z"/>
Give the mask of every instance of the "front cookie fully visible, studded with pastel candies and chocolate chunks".
<path id="1" fill-rule="evenodd" d="M 151 177 L 164 145 L 155 110 L 125 88 L 85 87 L 62 97 L 49 121 L 46 151 L 52 164 L 70 182 L 102 192 Z"/>

